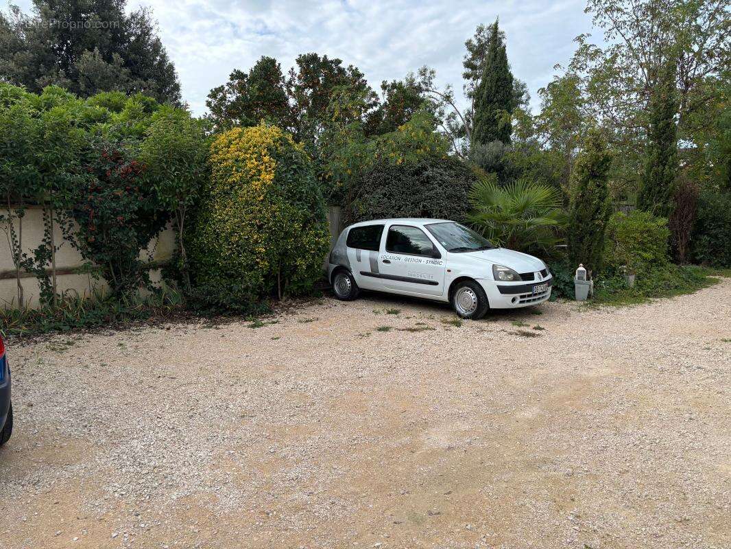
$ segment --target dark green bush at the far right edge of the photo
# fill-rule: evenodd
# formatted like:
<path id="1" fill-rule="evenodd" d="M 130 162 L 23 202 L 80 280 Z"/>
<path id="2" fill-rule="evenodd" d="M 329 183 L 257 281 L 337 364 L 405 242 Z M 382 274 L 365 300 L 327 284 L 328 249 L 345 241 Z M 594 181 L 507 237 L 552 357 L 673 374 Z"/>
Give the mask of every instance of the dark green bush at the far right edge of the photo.
<path id="1" fill-rule="evenodd" d="M 700 193 L 691 245 L 695 263 L 731 267 L 731 192 Z"/>

